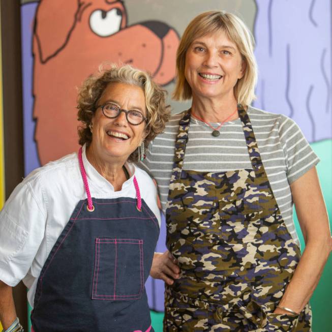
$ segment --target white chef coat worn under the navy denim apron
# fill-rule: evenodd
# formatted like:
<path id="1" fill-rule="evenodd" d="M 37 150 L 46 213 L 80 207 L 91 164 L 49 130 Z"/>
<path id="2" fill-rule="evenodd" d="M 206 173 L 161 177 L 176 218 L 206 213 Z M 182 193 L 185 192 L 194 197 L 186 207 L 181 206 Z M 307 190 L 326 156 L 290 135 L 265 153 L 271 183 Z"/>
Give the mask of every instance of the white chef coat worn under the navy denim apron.
<path id="1" fill-rule="evenodd" d="M 85 146 L 82 159 L 95 198 L 136 198 L 135 174 L 141 197 L 160 225 L 157 189 L 145 171 L 126 163 L 130 178 L 122 190 L 114 191 L 86 159 Z M 31 172 L 14 189 L 0 213 L 0 280 L 10 286 L 23 280 L 32 307 L 41 269 L 77 203 L 86 197 L 77 153 L 73 153 Z"/>

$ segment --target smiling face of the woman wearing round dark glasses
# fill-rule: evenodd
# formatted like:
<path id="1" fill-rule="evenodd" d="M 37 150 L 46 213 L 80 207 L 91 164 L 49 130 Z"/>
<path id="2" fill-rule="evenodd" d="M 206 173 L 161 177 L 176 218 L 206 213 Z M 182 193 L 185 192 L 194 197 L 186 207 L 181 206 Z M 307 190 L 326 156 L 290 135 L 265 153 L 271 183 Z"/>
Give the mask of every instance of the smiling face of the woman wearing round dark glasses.
<path id="1" fill-rule="evenodd" d="M 145 96 L 142 88 L 124 83 L 110 83 L 97 106 L 111 103 L 121 109 L 136 110 L 146 116 Z M 92 119 L 92 143 L 89 148 L 97 158 L 125 163 L 145 137 L 145 122 L 134 126 L 128 123 L 125 112 L 108 118 L 98 107 Z"/>

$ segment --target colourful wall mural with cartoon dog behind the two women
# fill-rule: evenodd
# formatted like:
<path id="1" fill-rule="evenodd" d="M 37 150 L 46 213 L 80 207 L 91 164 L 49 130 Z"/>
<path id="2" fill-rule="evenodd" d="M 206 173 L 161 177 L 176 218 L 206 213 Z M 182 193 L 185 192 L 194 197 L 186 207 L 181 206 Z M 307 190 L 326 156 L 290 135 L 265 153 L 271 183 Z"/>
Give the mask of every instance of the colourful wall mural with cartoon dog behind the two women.
<path id="1" fill-rule="evenodd" d="M 254 106 L 286 114 L 300 126 L 322 159 L 319 175 L 331 206 L 331 6 L 329 0 L 22 1 L 25 173 L 78 149 L 76 87 L 101 63 L 148 70 L 170 94 L 179 37 L 194 16 L 217 8 L 252 29 L 259 66 Z M 174 112 L 189 106 L 169 103 Z M 164 250 L 163 222 L 157 251 Z M 328 271 L 331 262 L 325 276 Z M 324 287 L 332 298 L 332 286 Z M 163 311 L 163 283 L 148 279 L 146 288 L 150 308 Z M 316 293 L 332 306 L 324 292 Z M 318 324 L 331 318 L 318 302 L 314 311 L 316 317 L 322 312 L 323 322 L 314 326 L 323 330 Z"/>

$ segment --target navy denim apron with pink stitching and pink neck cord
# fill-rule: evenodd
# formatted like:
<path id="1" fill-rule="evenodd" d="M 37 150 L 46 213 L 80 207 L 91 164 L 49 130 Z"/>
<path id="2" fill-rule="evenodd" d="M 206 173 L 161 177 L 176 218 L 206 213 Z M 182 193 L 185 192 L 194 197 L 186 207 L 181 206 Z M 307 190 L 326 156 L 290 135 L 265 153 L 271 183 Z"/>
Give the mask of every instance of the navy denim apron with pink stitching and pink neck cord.
<path id="1" fill-rule="evenodd" d="M 78 202 L 37 283 L 35 332 L 153 332 L 145 293 L 159 236 L 158 220 L 140 197 Z M 61 208 L 61 206 L 59 206 Z"/>

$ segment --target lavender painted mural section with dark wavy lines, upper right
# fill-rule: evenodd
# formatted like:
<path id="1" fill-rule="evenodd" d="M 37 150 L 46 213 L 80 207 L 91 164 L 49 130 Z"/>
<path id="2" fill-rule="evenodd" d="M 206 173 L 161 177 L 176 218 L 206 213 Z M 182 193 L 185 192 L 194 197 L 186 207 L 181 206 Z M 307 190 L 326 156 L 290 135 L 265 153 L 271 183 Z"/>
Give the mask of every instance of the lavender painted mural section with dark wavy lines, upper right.
<path id="1" fill-rule="evenodd" d="M 257 0 L 255 106 L 293 118 L 309 142 L 332 138 L 330 7 Z"/>

